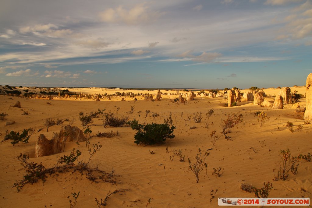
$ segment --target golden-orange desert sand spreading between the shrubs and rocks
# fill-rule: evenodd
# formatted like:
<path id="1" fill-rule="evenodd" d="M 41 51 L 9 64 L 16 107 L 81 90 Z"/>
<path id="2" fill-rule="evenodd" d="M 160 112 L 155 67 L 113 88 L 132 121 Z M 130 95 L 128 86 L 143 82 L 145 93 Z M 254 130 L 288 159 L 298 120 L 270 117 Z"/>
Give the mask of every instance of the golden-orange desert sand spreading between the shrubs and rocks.
<path id="1" fill-rule="evenodd" d="M 64 88 L 62 88 L 64 89 Z M 73 92 L 83 93 L 115 93 L 117 90 L 104 88 L 80 88 L 69 89 Z M 295 87 L 301 94 L 305 94 L 304 87 Z M 133 93 L 142 93 L 138 90 L 130 90 Z M 165 92 L 164 90 L 162 90 Z M 280 89 L 264 89 L 266 94 L 276 95 Z M 145 91 L 144 93 L 151 93 Z M 242 90 L 244 92 L 244 90 Z M 156 93 L 156 91 L 154 91 Z M 273 181 L 273 169 L 279 168 L 281 161 L 279 151 L 290 149 L 293 156 L 298 154 L 312 153 L 311 131 L 312 122 L 304 124 L 304 121 L 296 116 L 292 104 L 285 104 L 284 109 L 271 110 L 255 106 L 252 102 L 240 102 L 239 106 L 225 107 L 227 102 L 223 98 L 201 98 L 195 97 L 194 101 L 186 104 L 173 104 L 169 99 L 177 98 L 178 95 L 163 95 L 158 102 L 149 102 L 139 99 L 134 102 L 129 97 L 125 102 L 121 98 L 112 100 L 101 100 L 100 102 L 81 99 L 25 99 L 0 95 L 0 113 L 8 114 L 5 120 L 0 121 L 0 133 L 2 138 L 6 130 L 22 131 L 24 128 L 35 128 L 36 131 L 27 144 L 17 144 L 12 147 L 9 141 L 0 143 L 1 160 L 0 166 L 0 207 L 69 207 L 67 196 L 80 191 L 75 207 L 97 207 L 95 197 L 105 198 L 106 194 L 116 189 L 128 189 L 128 191 L 113 194 L 107 200 L 107 207 L 217 207 L 217 198 L 226 197 L 254 197 L 253 193 L 244 192 L 240 189 L 241 183 L 246 182 L 258 188 L 263 186 L 264 181 L 273 183 L 270 197 L 310 197 L 312 198 L 312 162 L 300 161 L 298 174 L 290 176 L 285 181 Z M 273 102 L 273 98 L 269 99 Z M 20 101 L 22 109 L 10 107 L 16 101 Z M 51 105 L 46 104 L 50 102 Z M 301 107 L 305 107 L 306 100 L 299 100 Z M 128 114 L 134 106 L 134 114 Z M 56 157 L 67 155 L 72 148 L 82 151 L 81 159 L 88 157 L 84 144 L 77 147 L 76 143 L 66 144 L 65 152 L 46 157 L 34 158 L 35 143 L 40 133 L 49 139 L 53 132 L 59 132 L 61 126 L 52 126 L 49 131 L 44 128 L 43 122 L 46 118 L 75 118 L 73 126 L 80 129 L 81 123 L 78 114 L 83 111 L 89 113 L 97 109 L 106 109 L 105 112 L 128 115 L 129 119 L 139 120 L 140 123 L 163 123 L 169 113 L 172 113 L 175 138 L 167 139 L 163 145 L 143 146 L 134 143 L 135 131 L 129 127 L 103 128 L 103 126 L 92 126 L 92 135 L 100 132 L 119 132 L 120 136 L 112 138 L 92 137 L 91 143 L 100 142 L 103 148 L 96 152 L 91 159 L 90 165 L 100 170 L 110 172 L 112 167 L 118 176 L 117 183 L 95 183 L 87 180 L 79 173 L 61 173 L 58 176 L 48 176 L 47 181 L 27 184 L 22 191 L 16 191 L 12 187 L 16 180 L 23 177 L 24 169 L 20 162 L 15 160 L 20 153 L 28 154 L 31 162 L 42 162 L 46 167 L 56 163 Z M 206 113 L 214 109 L 214 114 L 208 119 Z M 160 116 L 154 121 L 151 113 L 145 118 L 145 111 L 157 112 Z M 271 118 L 260 127 L 256 111 L 264 111 Z M 21 115 L 27 111 L 29 115 Z M 138 113 L 142 111 L 142 113 Z M 193 117 L 194 112 L 202 112 L 202 121 L 195 123 L 193 119 L 188 122 L 188 116 Z M 244 120 L 230 130 L 233 141 L 227 141 L 221 136 L 221 120 L 227 118 L 229 113 L 242 113 Z M 140 117 L 139 117 L 140 114 Z M 4 126 L 6 121 L 16 121 L 15 124 Z M 291 133 L 285 126 L 288 121 L 294 123 L 295 132 Z M 62 125 L 67 125 L 64 122 Z M 94 119 L 94 124 L 101 124 L 100 118 Z M 209 129 L 205 128 L 206 123 Z M 195 129 L 190 129 L 192 126 Z M 296 130 L 302 125 L 302 131 Z M 217 131 L 220 138 L 216 145 L 210 150 L 206 161 L 208 164 L 207 175 L 204 170 L 200 174 L 198 183 L 195 181 L 193 172 L 190 171 L 187 158 L 194 161 L 198 148 L 207 150 L 212 148 L 209 133 Z M 166 147 L 168 151 L 166 152 Z M 252 149 L 253 148 L 253 149 Z M 170 161 L 173 151 L 182 150 L 185 154 L 185 162 L 180 162 L 177 156 Z M 155 154 L 150 154 L 153 150 Z M 212 175 L 213 167 L 224 168 L 222 177 Z M 165 167 L 165 169 L 164 169 Z M 210 203 L 210 189 L 218 189 L 215 198 Z M 301 191 L 301 188 L 307 190 Z M 71 197 L 72 198 L 72 197 Z"/>

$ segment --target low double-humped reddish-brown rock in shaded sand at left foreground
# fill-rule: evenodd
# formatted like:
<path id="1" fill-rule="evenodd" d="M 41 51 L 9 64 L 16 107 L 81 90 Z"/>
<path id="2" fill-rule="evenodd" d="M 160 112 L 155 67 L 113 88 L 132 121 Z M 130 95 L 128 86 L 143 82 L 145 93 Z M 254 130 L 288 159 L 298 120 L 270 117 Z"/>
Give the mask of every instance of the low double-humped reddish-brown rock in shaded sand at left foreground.
<path id="1" fill-rule="evenodd" d="M 83 132 L 76 126 L 64 126 L 59 134 L 55 134 L 51 140 L 45 135 L 40 134 L 35 146 L 35 156 L 43 157 L 47 155 L 57 154 L 64 148 L 65 142 L 83 142 L 86 141 Z"/>

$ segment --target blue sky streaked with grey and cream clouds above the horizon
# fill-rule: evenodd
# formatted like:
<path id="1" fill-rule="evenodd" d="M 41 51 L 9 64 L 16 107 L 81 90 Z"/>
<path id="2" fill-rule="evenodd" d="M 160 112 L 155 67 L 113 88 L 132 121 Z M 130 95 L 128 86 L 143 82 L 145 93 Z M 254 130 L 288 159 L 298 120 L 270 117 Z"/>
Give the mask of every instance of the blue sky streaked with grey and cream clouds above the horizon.
<path id="1" fill-rule="evenodd" d="M 305 85 L 312 0 L 2 0 L 0 85 Z"/>

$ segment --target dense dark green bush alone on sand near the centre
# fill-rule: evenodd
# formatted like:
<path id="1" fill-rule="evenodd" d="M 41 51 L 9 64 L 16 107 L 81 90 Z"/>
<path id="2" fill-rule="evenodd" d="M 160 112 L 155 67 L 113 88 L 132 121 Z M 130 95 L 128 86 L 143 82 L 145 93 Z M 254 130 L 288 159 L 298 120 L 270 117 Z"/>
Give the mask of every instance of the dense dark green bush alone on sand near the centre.
<path id="1" fill-rule="evenodd" d="M 175 126 L 171 126 L 166 123 L 149 123 L 146 125 L 139 124 L 138 121 L 133 120 L 128 122 L 130 127 L 138 131 L 134 135 L 134 143 L 136 144 L 163 144 L 166 138 L 174 138 L 173 130 Z"/>

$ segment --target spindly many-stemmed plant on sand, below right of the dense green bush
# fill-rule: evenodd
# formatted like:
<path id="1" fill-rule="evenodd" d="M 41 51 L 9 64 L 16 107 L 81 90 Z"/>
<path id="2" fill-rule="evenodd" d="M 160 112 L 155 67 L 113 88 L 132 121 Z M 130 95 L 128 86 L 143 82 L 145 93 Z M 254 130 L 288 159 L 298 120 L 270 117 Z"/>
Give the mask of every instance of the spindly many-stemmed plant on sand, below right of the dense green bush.
<path id="1" fill-rule="evenodd" d="M 188 165 L 191 171 L 195 174 L 196 183 L 198 183 L 199 175 L 202 172 L 204 167 L 206 168 L 206 172 L 207 172 L 207 163 L 205 162 L 205 160 L 210 155 L 210 152 L 205 152 L 204 154 L 202 154 L 202 150 L 200 148 L 198 148 L 198 152 L 199 153 L 197 153 L 195 157 L 195 160 L 196 160 L 195 163 L 192 164 L 190 158 L 188 158 Z"/>

